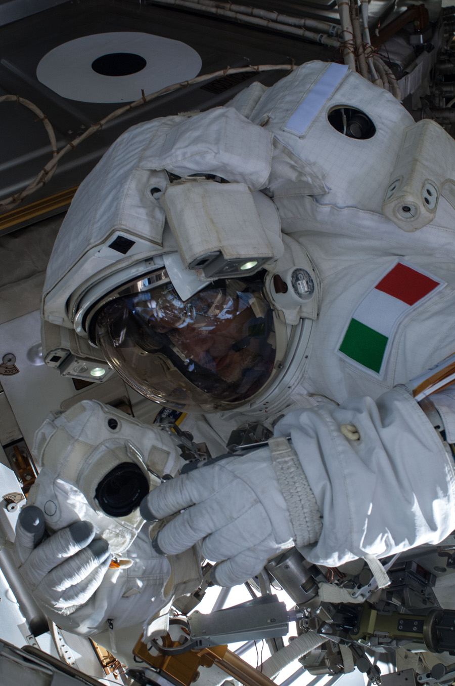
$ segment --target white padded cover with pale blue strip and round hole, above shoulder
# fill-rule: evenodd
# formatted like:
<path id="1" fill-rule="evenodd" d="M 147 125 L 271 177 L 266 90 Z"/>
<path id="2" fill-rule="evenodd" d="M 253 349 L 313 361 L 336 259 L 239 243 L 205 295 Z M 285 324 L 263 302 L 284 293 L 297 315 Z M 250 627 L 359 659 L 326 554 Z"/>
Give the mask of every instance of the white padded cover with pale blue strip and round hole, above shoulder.
<path id="1" fill-rule="evenodd" d="M 372 138 L 348 138 L 330 125 L 328 113 L 343 105 L 368 115 L 376 127 Z M 275 140 L 323 178 L 328 193 L 309 191 L 318 202 L 376 212 L 381 209 L 404 128 L 414 123 L 391 93 L 346 70 L 345 65 L 330 62 L 303 64 L 269 88 L 249 118 L 273 132 Z M 279 183 L 273 170 L 272 174 L 269 185 L 275 190 Z M 281 175 L 280 182 L 286 182 L 286 177 Z"/>

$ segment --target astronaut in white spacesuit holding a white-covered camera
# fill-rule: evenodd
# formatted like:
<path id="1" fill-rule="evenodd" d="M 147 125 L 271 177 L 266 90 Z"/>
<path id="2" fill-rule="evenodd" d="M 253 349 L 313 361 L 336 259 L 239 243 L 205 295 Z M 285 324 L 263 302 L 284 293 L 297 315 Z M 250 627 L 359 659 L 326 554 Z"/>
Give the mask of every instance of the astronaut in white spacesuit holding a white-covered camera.
<path id="1" fill-rule="evenodd" d="M 369 130 L 348 137 L 349 121 L 336 130 L 336 110 L 360 110 Z M 29 504 L 60 532 L 34 547 L 40 517 L 29 518 L 16 558 L 59 626 L 90 634 L 151 617 L 151 596 L 158 611 L 175 587 L 197 586 L 197 552 L 188 584 L 179 563 L 197 543 L 193 551 L 217 563 L 215 582 L 232 586 L 293 545 L 335 567 L 438 543 L 455 529 L 446 449 L 455 403 L 450 391 L 435 396 L 432 422 L 406 386 L 454 352 L 454 209 L 425 169 L 439 202 L 401 200 L 396 221 L 382 212 L 406 185 L 393 171 L 413 126 L 391 94 L 341 65 L 310 62 L 225 107 L 135 126 L 81 185 L 49 263 L 45 320 L 73 332 L 79 359 L 105 357 L 149 399 L 199 413 L 184 428 L 218 440 L 218 454 L 245 421 L 275 438 L 153 488 L 145 519 L 184 511 L 153 530 L 153 545 L 145 526 L 120 546 L 119 564 L 122 555 L 132 564 L 121 582 L 122 570 L 108 569 L 108 544 L 90 543 L 103 540 L 101 525 L 62 528 L 84 519 L 89 496 L 47 445 L 64 427 L 72 438 L 60 449 L 97 449 L 108 429 L 84 434 L 81 416 L 108 410 L 94 403 L 49 420 L 34 451 L 50 476 L 38 477 Z M 146 462 L 160 430 L 128 432 L 132 444 L 140 436 Z M 59 488 L 79 514 L 52 526 L 44 506 Z M 77 549 L 87 560 L 72 557 Z M 76 561 L 64 569 L 62 558 Z M 174 580 L 168 563 L 180 570 Z"/>

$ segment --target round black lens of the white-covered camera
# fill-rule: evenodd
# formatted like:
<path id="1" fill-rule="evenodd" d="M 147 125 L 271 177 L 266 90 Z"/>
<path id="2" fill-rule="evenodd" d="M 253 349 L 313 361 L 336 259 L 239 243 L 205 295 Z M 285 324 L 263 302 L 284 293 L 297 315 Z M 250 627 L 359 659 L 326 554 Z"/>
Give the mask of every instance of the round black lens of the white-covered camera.
<path id="1" fill-rule="evenodd" d="M 132 462 L 122 462 L 101 479 L 95 498 L 110 517 L 126 517 L 139 507 L 147 493 L 149 482 L 142 469 Z"/>

